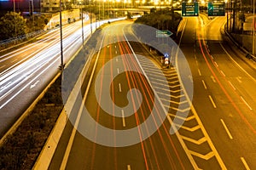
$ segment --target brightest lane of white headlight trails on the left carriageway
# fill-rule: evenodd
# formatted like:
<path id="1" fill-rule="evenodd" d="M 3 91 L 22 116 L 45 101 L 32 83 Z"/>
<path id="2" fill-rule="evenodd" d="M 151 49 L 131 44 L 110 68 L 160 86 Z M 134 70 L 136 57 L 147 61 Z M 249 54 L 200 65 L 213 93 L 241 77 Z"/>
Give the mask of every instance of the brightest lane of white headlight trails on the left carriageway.
<path id="1" fill-rule="evenodd" d="M 85 32 L 86 33 L 86 32 Z M 87 32 L 87 35 L 89 34 L 89 31 Z M 76 53 L 76 51 L 79 50 L 80 44 L 82 43 L 82 38 L 79 36 L 73 37 L 65 40 L 63 44 L 65 47 L 63 48 L 63 60 L 64 62 L 67 62 L 73 54 Z M 67 44 L 72 43 L 72 45 L 67 46 Z M 37 76 L 34 74 L 34 71 L 38 71 L 42 69 L 44 66 L 47 67 L 47 65 L 52 65 L 52 62 L 55 62 L 55 60 L 61 60 L 59 58 L 60 52 L 59 50 L 59 44 L 55 44 L 54 46 L 51 46 L 51 49 L 45 52 L 40 52 L 40 54 L 34 56 L 30 61 L 23 63 L 19 67 L 16 67 L 15 69 L 3 74 L 3 77 L 1 77 L 2 87 L 1 87 L 1 93 L 5 93 L 4 96 L 1 96 L 1 100 L 3 97 L 5 98 L 6 95 L 11 93 L 15 88 L 17 88 L 17 84 L 21 84 L 26 81 L 27 78 L 32 76 Z M 56 68 L 59 65 L 56 66 Z"/>

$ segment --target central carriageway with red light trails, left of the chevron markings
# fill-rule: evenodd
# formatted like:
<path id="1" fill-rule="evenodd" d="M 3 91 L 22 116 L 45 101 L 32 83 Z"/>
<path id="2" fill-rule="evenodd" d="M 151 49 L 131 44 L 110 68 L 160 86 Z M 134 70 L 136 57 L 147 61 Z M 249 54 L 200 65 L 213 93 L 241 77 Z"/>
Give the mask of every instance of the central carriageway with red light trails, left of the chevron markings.
<path id="1" fill-rule="evenodd" d="M 98 59 L 95 73 L 89 73 L 89 75 L 91 74 L 93 76 L 90 87 L 84 85 L 86 88 L 89 87 L 85 105 L 79 99 L 73 104 L 84 105 L 93 118 L 92 121 L 98 122 L 98 124 L 92 125 L 88 121 L 90 118 L 84 116 L 84 114 L 87 114 L 85 111 L 82 112 L 82 116 L 79 118 L 79 125 L 74 130 L 72 130 L 73 126 L 68 122 L 49 169 L 192 168 L 181 144 L 178 143 L 176 135 L 171 136 L 169 134 L 171 127 L 170 120 L 164 120 L 166 113 L 161 107 L 161 102 L 155 99 L 154 91 L 148 84 L 148 79 L 143 77 L 141 71 L 142 65 L 144 67 L 151 65 L 152 68 L 148 70 L 151 73 L 152 71 L 158 71 L 160 66 L 154 65 L 150 59 L 138 57 L 136 55 L 137 51 L 135 51 L 136 54 L 132 53 L 133 48 L 130 47 L 129 42 L 125 41 L 125 35 L 123 33 L 123 30 L 127 26 L 131 26 L 131 23 L 111 24 L 111 26 L 103 29 L 105 36 L 102 39 L 103 45 L 100 47 L 101 50 L 95 56 Z M 142 50 L 143 47 L 139 47 L 139 49 Z M 140 51 L 140 53 L 149 55 L 145 49 Z M 138 64 L 138 58 L 140 58 L 139 63 L 143 64 Z M 147 71 L 147 69 L 143 71 Z M 140 72 L 140 74 L 137 72 Z M 115 75 L 118 76 L 115 77 Z M 97 79 L 96 77 L 100 78 Z M 109 88 L 108 81 L 110 80 L 113 80 L 113 83 L 111 83 Z M 161 87 L 157 84 L 156 86 Z M 130 92 L 131 97 L 129 97 L 130 95 L 127 92 L 131 88 L 139 90 L 141 95 L 138 92 Z M 165 88 L 160 88 L 160 91 L 163 92 L 164 90 Z M 108 94 L 111 94 L 111 99 L 106 97 Z M 126 100 L 126 95 L 128 101 Z M 137 106 L 137 103 L 140 103 L 141 99 L 141 105 Z M 118 105 L 123 109 L 119 110 L 114 105 Z M 132 105 L 132 108 L 129 108 L 129 105 Z M 104 109 L 105 107 L 107 109 Z M 78 110 L 74 106 L 74 113 L 71 113 L 71 115 L 76 114 Z M 154 110 L 156 110 L 156 113 Z M 154 112 L 152 114 L 155 114 L 154 122 L 148 122 L 151 111 Z M 164 121 L 160 128 L 157 127 L 158 119 Z M 75 124 L 74 122 L 76 121 L 71 119 L 70 122 Z M 140 127 L 140 124 L 143 122 L 145 123 L 145 127 Z M 88 126 L 90 127 L 87 127 L 86 124 L 89 124 Z M 119 133 L 114 133 L 113 131 L 110 131 L 108 135 L 105 133 L 102 134 L 104 130 L 102 130 L 102 126 L 119 130 L 124 136 L 121 135 L 119 137 Z M 93 136 L 92 139 L 88 137 L 89 134 L 84 132 L 88 128 L 90 128 L 90 133 Z M 132 132 L 137 132 L 137 136 L 129 133 L 129 129 L 132 128 L 136 129 Z M 151 136 L 149 135 L 150 129 L 155 129 L 155 133 Z M 125 133 L 131 136 L 127 136 Z M 148 139 L 144 140 L 143 137 L 148 135 Z M 91 141 L 94 138 L 96 138 L 97 142 Z M 66 147 L 67 149 L 63 150 Z"/>

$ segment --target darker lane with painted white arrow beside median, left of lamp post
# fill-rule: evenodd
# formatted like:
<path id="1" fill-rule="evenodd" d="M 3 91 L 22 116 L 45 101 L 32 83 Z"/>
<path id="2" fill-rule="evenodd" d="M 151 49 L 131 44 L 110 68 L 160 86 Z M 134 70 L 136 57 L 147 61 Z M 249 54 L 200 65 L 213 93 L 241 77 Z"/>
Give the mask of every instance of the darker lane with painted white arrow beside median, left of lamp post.
<path id="1" fill-rule="evenodd" d="M 54 65 L 55 64 L 55 65 Z M 32 77 L 27 77 L 25 82 L 19 83 L 9 95 L 0 102 L 0 133 L 1 136 L 7 132 L 9 127 L 26 111 L 32 101 L 37 98 L 38 94 L 49 84 L 58 72 L 60 59 L 56 59 L 51 65 L 34 72 Z M 48 68 L 47 68 L 48 67 Z M 45 70 L 47 68 L 47 70 Z M 49 71 L 52 74 L 49 74 Z M 17 84 L 15 84 L 17 85 Z"/>

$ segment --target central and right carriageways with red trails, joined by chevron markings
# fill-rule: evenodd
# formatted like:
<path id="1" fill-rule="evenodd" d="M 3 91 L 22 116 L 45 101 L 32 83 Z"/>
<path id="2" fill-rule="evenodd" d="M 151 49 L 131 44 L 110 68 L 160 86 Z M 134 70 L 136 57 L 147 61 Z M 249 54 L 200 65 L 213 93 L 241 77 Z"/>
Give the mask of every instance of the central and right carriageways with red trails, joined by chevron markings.
<path id="1" fill-rule="evenodd" d="M 205 15 L 183 19 L 179 47 L 192 73 L 183 80 L 177 64 L 163 68 L 160 58 L 152 56 L 157 54 L 139 43 L 127 42 L 127 37 L 135 37 L 130 23 L 104 28 L 99 50 L 93 57 L 97 62 L 95 72 L 90 73 L 91 83 L 88 77 L 83 80 L 84 98 L 73 101 L 69 114 L 75 119 L 67 122 L 49 169 L 254 169 L 255 70 L 251 61 L 245 61 L 244 54 L 222 36 L 224 21 L 225 17 L 208 20 Z M 133 71 L 140 72 L 137 69 L 146 76 L 134 74 Z M 167 88 L 157 76 L 159 71 L 167 77 Z M 185 95 L 188 89 L 183 85 L 191 81 L 190 76 L 193 98 Z M 134 87 L 140 95 L 127 93 Z M 168 93 L 170 103 L 164 97 Z M 142 102 L 137 110 L 140 99 L 147 105 Z M 134 115 L 125 116 L 125 109 L 115 107 L 131 103 Z M 168 114 L 148 139 L 143 137 L 156 124 L 149 123 L 146 131 L 139 129 L 139 142 L 131 145 L 133 135 L 124 136 L 121 141 L 126 145 L 122 145 L 119 133 L 102 130 L 140 127 L 147 122 L 152 105 L 159 109 L 163 105 Z M 183 116 L 186 111 L 189 114 Z M 182 124 L 175 122 L 178 119 Z M 175 134 L 169 131 L 173 122 L 178 129 Z"/>

